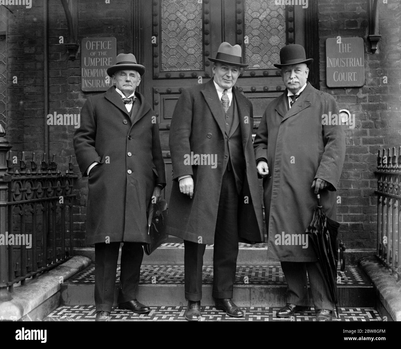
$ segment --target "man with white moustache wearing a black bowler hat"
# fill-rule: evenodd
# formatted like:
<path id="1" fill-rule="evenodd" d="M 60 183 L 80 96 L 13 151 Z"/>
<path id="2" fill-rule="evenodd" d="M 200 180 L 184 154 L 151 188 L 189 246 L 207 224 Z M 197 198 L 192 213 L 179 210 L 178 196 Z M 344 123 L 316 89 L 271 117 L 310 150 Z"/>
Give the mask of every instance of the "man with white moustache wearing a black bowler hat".
<path id="1" fill-rule="evenodd" d="M 253 146 L 263 177 L 267 258 L 281 261 L 288 283 L 287 305 L 277 311 L 277 317 L 308 309 L 308 273 L 316 320 L 331 321 L 334 303 L 305 232 L 319 191 L 327 217 L 336 219 L 335 191 L 345 140 L 341 125 L 322 122 L 325 114 L 338 115 L 338 108 L 330 94 L 306 81 L 312 61 L 301 45 L 280 50 L 280 64 L 274 66 L 281 68 L 286 90 L 267 106 Z"/>

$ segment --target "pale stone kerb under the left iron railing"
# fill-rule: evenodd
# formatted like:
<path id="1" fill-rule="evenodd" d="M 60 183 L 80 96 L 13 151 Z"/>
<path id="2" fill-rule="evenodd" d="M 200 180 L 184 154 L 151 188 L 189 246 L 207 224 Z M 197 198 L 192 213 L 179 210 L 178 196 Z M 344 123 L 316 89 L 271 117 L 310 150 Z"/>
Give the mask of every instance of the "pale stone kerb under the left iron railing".
<path id="1" fill-rule="evenodd" d="M 15 321 L 25 317 L 59 292 L 61 277 L 66 281 L 90 263 L 87 257 L 74 256 L 37 279 L 27 280 L 24 286 L 14 287 L 12 299 L 0 303 L 0 319 Z"/>

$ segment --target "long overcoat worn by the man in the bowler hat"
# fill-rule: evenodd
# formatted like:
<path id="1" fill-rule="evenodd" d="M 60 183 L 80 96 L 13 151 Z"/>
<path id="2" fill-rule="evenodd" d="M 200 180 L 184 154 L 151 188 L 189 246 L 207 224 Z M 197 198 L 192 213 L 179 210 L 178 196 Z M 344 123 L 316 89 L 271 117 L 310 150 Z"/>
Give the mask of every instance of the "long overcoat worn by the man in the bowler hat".
<path id="1" fill-rule="evenodd" d="M 308 83 L 288 110 L 287 90 L 273 100 L 261 119 L 254 141 L 255 158 L 264 158 L 269 175 L 263 179 L 268 234 L 267 257 L 287 262 L 316 261 L 312 245 L 303 248 L 298 237 L 312 220 L 315 178 L 330 183 L 320 194 L 326 215 L 336 220 L 336 187 L 345 157 L 342 125 L 324 125 L 322 115 L 338 115 L 334 98 Z M 277 235 L 280 235 L 278 237 Z M 285 236 L 284 235 L 284 236 Z M 304 245 L 306 238 L 304 237 Z"/>

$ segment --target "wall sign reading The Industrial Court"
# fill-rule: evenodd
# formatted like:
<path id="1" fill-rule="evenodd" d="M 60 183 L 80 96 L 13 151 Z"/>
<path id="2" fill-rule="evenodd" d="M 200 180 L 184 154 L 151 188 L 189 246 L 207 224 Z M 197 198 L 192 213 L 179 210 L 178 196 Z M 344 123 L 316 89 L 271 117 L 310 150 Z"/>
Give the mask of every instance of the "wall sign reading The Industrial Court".
<path id="1" fill-rule="evenodd" d="M 326 39 L 326 83 L 328 87 L 361 87 L 365 84 L 363 38 Z"/>

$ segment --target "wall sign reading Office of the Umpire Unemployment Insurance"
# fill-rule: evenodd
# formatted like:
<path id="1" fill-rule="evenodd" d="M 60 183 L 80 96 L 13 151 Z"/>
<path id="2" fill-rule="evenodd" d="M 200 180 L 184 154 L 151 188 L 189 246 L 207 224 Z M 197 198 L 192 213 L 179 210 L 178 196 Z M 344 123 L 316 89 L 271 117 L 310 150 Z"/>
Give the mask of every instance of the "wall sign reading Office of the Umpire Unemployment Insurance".
<path id="1" fill-rule="evenodd" d="M 83 38 L 81 41 L 81 90 L 107 91 L 113 85 L 107 75 L 117 55 L 115 38 Z"/>

